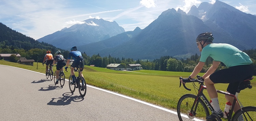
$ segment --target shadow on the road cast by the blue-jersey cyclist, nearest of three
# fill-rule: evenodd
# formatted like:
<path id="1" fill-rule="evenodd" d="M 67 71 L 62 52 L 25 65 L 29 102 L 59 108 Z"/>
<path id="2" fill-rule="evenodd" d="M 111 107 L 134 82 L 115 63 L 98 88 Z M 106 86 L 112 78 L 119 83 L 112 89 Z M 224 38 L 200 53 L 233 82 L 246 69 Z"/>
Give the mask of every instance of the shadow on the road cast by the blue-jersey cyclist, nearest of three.
<path id="1" fill-rule="evenodd" d="M 72 96 L 73 93 L 66 92 L 62 94 L 62 98 L 52 98 L 52 100 L 47 103 L 47 105 L 69 105 L 71 102 L 80 102 L 83 101 L 84 98 L 80 96 Z"/>

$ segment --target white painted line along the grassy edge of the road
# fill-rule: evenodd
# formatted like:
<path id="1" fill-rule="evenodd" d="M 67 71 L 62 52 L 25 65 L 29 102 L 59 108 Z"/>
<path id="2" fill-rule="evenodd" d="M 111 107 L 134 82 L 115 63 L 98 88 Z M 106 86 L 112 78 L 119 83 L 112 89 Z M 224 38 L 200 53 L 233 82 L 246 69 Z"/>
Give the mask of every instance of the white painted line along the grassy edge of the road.
<path id="1" fill-rule="evenodd" d="M 7 66 L 7 65 L 3 65 L 3 66 Z M 9 66 L 9 67 L 13 67 L 13 66 Z M 18 67 L 14 67 L 14 68 L 18 68 Z M 23 68 L 19 68 L 19 69 L 23 69 Z M 27 70 L 27 69 L 24 69 L 24 70 Z M 27 71 L 31 71 L 31 70 L 27 70 Z M 36 71 L 32 71 L 32 72 L 36 72 Z M 40 73 L 40 72 L 36 72 L 36 73 Z M 45 73 L 40 73 L 40 74 L 45 74 Z M 65 79 L 66 81 L 69 81 L 68 79 Z M 112 92 L 112 91 L 109 91 L 109 90 L 105 90 L 105 89 L 101 89 L 101 88 L 98 88 L 98 87 L 94 87 L 94 86 L 91 86 L 91 85 L 86 85 L 87 87 L 91 87 L 91 88 L 95 88 L 95 89 L 98 89 L 98 90 L 101 90 L 101 91 L 105 91 L 105 92 L 108 92 L 108 93 L 111 93 L 111 94 L 115 94 L 117 96 L 120 96 L 120 97 L 124 97 L 124 98 L 127 98 L 127 99 L 130 99 L 130 100 L 133 100 L 133 101 L 137 101 L 139 103 L 143 103 L 143 104 L 146 104 L 146 105 L 149 105 L 149 106 L 152 106 L 152 107 L 155 107 L 155 108 L 158 108 L 158 109 L 161 109 L 161 110 L 164 110 L 164 111 L 167 111 L 167 112 L 170 112 L 172 114 L 176 114 L 178 115 L 177 112 L 175 111 L 172 111 L 172 110 L 169 110 L 169 109 L 166 109 L 166 108 L 163 108 L 163 107 L 160 107 L 160 106 L 156 106 L 156 105 L 153 105 L 153 104 L 150 104 L 150 103 L 147 103 L 147 102 L 143 102 L 141 100 L 138 100 L 138 99 L 134 99 L 134 98 L 131 98 L 131 97 L 128 97 L 128 96 L 124 96 L 122 94 L 118 94 L 118 93 L 115 93 L 115 92 Z M 181 114 L 182 117 L 185 117 L 185 118 L 188 118 L 187 115 L 183 115 Z M 194 119 L 195 121 L 203 121 L 203 120 L 200 120 L 200 119 Z"/>

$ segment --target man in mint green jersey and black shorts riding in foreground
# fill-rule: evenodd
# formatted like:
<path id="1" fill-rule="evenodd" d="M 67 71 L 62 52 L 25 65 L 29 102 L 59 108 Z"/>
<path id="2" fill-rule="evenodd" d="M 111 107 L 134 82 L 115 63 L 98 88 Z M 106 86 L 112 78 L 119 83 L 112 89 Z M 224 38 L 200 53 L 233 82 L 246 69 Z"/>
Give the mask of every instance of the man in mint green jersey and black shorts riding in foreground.
<path id="1" fill-rule="evenodd" d="M 211 32 L 198 35 L 196 42 L 197 47 L 201 52 L 199 63 L 188 78 L 181 79 L 181 82 L 184 84 L 186 81 L 193 79 L 193 77 L 195 77 L 202 70 L 207 57 L 210 56 L 213 58 L 212 66 L 202 76 L 214 108 L 214 112 L 210 116 L 206 117 L 207 120 L 223 117 L 223 112 L 219 107 L 218 94 L 214 84 L 229 83 L 226 92 L 236 94 L 239 83 L 253 76 L 253 70 L 250 65 L 252 64 L 252 60 L 246 53 L 232 45 L 222 43 L 214 44 L 212 41 L 213 35 Z M 228 68 L 216 71 L 221 62 L 224 63 Z M 227 101 L 233 103 L 232 97 L 225 95 L 225 98 Z M 236 103 L 234 112 L 239 109 L 240 107 Z"/>

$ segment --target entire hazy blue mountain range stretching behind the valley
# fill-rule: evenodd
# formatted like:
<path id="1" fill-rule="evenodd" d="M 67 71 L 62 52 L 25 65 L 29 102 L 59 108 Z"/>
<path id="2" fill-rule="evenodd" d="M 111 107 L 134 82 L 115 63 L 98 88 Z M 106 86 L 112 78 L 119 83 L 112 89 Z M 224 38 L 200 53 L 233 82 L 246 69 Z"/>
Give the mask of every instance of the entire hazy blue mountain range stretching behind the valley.
<path id="1" fill-rule="evenodd" d="M 100 54 L 134 59 L 156 59 L 166 55 L 186 58 L 189 54 L 199 54 L 195 39 L 203 32 L 212 32 L 214 43 L 228 43 L 240 50 L 256 47 L 256 16 L 218 0 L 214 4 L 202 2 L 198 7 L 192 6 L 187 14 L 180 9 L 168 9 L 146 28 L 128 32 L 115 21 L 114 26 L 107 27 L 111 22 L 103 19 L 85 22 L 99 26 L 76 24 L 38 40 L 48 40 L 63 49 L 67 45 L 81 45 L 77 46 L 78 50 L 89 56 Z M 70 40 L 72 43 L 68 43 Z M 62 42 L 65 45 L 61 45 Z"/>

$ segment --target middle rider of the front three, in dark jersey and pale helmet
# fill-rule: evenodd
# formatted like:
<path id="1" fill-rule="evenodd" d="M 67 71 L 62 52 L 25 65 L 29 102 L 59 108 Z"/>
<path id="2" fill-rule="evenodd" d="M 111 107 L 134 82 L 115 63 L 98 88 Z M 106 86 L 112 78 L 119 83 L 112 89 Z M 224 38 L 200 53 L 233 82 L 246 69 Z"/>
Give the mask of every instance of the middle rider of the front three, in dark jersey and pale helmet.
<path id="1" fill-rule="evenodd" d="M 56 83 L 55 84 L 58 84 L 59 71 L 60 71 L 60 69 L 63 71 L 62 67 L 66 66 L 66 61 L 65 61 L 63 55 L 61 55 L 61 52 L 59 50 L 56 51 L 56 56 L 54 57 L 52 66 L 54 66 L 56 61 L 57 61 L 57 65 L 56 65 Z"/>

